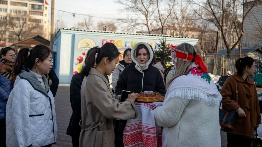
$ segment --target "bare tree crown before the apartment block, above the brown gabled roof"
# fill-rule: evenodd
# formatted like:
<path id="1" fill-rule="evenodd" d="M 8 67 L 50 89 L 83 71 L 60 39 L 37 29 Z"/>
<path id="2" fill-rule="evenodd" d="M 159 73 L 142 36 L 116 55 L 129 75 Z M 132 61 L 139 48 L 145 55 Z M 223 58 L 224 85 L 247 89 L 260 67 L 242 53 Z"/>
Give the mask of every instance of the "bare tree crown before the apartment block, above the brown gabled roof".
<path id="1" fill-rule="evenodd" d="M 28 14 L 15 13 L 9 15 L 9 39 L 20 41 L 33 35 L 43 36 L 43 20 L 33 19 Z"/>

